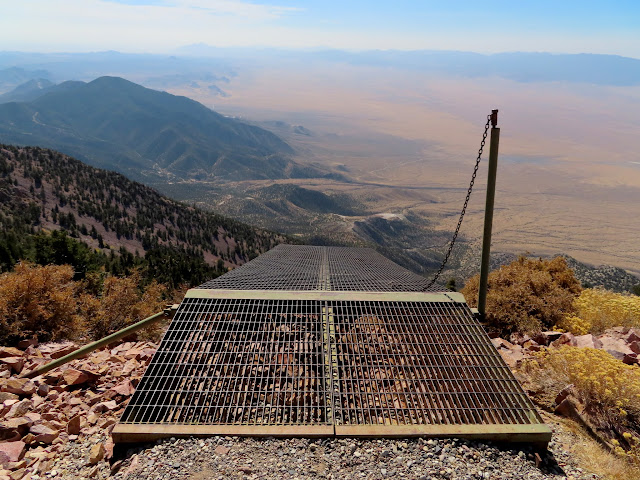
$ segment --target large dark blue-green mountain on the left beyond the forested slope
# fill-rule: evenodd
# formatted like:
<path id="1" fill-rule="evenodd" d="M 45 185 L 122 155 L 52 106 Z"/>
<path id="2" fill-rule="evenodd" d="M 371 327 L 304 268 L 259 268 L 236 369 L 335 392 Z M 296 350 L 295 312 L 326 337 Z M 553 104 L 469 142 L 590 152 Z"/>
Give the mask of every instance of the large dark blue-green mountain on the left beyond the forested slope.
<path id="1" fill-rule="evenodd" d="M 297 163 L 293 149 L 267 130 L 122 78 L 59 85 L 32 80 L 2 98 L 11 102 L 0 105 L 1 142 L 54 148 L 136 180 L 326 173 Z"/>

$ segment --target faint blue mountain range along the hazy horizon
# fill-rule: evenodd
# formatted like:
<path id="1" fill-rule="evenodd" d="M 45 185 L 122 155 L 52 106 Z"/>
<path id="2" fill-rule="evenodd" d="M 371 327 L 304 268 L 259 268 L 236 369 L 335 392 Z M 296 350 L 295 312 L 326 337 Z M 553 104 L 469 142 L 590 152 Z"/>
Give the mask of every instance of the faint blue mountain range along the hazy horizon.
<path id="1" fill-rule="evenodd" d="M 27 80 L 46 78 L 93 79 L 119 75 L 140 79 L 152 88 L 171 88 L 196 82 L 222 84 L 242 75 L 247 66 L 297 64 L 370 65 L 401 68 L 429 74 L 468 78 L 502 77 L 517 82 L 570 82 L 595 85 L 640 85 L 640 59 L 603 54 L 553 54 L 508 52 L 484 55 L 474 52 L 430 50 L 284 50 L 218 48 L 204 44 L 178 49 L 178 55 L 121 52 L 28 53 L 0 51 L 0 92 Z"/>

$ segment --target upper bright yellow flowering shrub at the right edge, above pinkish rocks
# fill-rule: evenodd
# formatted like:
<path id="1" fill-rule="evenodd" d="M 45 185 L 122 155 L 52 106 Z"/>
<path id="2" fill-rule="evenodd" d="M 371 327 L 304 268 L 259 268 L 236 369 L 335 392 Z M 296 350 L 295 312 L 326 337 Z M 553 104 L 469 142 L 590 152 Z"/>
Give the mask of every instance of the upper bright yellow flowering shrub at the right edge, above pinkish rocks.
<path id="1" fill-rule="evenodd" d="M 573 302 L 575 315 L 567 315 L 558 327 L 576 335 L 602 333 L 608 328 L 640 327 L 640 297 L 601 288 L 583 290 Z"/>

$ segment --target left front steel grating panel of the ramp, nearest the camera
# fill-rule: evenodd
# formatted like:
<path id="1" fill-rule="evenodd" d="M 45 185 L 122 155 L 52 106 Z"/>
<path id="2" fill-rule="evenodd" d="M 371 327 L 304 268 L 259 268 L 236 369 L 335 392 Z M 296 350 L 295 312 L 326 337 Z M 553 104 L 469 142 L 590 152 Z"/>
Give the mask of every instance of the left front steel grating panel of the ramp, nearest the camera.
<path id="1" fill-rule="evenodd" d="M 318 301 L 187 298 L 122 423 L 329 425 Z"/>

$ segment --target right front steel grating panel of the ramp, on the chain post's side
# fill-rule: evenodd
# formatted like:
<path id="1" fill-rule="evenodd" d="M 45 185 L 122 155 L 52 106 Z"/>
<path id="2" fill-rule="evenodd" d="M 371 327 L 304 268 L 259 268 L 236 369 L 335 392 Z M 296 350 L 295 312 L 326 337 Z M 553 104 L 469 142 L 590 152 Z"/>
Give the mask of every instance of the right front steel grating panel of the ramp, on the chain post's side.
<path id="1" fill-rule="evenodd" d="M 541 422 L 466 304 L 331 302 L 336 425 Z"/>

